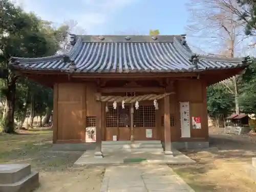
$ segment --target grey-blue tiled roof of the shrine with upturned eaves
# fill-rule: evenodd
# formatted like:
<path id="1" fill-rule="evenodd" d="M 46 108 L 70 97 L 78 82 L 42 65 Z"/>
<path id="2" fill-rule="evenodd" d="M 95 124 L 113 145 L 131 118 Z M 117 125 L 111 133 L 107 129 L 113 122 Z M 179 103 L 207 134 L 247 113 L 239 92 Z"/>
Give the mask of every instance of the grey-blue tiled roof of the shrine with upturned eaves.
<path id="1" fill-rule="evenodd" d="M 74 37 L 74 36 L 73 36 Z M 12 57 L 15 69 L 67 71 L 74 61 L 75 72 L 191 72 L 247 66 L 243 58 L 195 55 L 184 35 L 75 36 L 62 55 L 41 58 Z"/>

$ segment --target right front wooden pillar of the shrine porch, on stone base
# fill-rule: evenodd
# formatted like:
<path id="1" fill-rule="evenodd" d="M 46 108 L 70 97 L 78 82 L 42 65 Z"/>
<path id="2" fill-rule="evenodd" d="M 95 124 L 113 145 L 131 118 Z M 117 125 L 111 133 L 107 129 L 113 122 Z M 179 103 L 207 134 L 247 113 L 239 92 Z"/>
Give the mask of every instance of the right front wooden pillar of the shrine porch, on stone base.
<path id="1" fill-rule="evenodd" d="M 164 154 L 173 156 L 172 146 L 170 144 L 170 99 L 164 97 Z"/>

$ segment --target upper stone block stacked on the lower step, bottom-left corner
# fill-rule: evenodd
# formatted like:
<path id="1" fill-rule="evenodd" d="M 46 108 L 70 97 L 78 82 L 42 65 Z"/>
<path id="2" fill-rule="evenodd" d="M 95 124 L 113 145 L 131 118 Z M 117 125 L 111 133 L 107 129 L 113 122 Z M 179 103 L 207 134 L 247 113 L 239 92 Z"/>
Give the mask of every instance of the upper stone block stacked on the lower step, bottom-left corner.
<path id="1" fill-rule="evenodd" d="M 0 184 L 16 183 L 30 174 L 30 164 L 0 164 Z"/>

